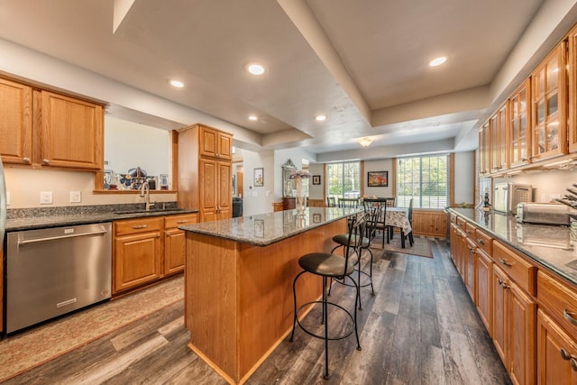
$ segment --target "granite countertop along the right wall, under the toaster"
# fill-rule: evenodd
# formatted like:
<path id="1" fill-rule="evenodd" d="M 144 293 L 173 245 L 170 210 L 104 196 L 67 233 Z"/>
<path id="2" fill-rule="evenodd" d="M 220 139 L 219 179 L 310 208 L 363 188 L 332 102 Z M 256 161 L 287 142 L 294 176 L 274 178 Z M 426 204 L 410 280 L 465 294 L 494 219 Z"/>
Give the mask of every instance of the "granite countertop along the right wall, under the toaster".
<path id="1" fill-rule="evenodd" d="M 577 285 L 577 232 L 569 226 L 519 224 L 515 215 L 467 208 L 448 211 Z"/>

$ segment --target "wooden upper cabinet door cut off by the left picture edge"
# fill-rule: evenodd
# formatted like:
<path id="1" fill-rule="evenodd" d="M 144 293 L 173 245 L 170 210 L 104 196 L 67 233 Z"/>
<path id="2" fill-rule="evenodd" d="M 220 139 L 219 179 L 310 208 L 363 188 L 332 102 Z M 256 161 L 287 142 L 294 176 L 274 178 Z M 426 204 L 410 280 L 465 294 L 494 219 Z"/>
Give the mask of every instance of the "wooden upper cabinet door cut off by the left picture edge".
<path id="1" fill-rule="evenodd" d="M 32 87 L 0 78 L 0 154 L 12 164 L 32 163 Z"/>

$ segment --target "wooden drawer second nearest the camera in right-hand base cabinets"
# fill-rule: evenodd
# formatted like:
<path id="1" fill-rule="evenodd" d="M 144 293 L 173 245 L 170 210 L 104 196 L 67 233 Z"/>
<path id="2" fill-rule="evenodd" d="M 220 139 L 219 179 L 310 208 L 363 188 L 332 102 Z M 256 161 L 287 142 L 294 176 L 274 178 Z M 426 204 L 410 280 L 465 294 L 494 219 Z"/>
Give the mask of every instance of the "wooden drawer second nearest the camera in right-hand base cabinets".
<path id="1" fill-rule="evenodd" d="M 524 257 L 508 249 L 499 242 L 493 242 L 493 260 L 511 280 L 527 291 L 532 296 L 536 296 L 536 266 L 525 260 Z"/>

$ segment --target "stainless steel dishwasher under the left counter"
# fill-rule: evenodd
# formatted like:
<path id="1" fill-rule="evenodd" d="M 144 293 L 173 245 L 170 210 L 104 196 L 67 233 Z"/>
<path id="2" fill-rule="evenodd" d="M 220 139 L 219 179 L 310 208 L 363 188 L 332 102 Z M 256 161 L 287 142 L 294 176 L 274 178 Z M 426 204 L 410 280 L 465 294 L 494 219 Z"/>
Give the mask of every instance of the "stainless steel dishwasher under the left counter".
<path id="1" fill-rule="evenodd" d="M 112 225 L 7 234 L 6 333 L 110 298 Z"/>

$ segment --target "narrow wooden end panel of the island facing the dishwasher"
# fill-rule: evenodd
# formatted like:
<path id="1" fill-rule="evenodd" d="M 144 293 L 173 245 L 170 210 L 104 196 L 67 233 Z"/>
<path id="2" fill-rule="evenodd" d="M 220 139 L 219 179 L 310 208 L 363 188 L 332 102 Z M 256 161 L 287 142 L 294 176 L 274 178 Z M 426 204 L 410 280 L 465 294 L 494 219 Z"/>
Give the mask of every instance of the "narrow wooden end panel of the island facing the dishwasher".
<path id="1" fill-rule="evenodd" d="M 232 379 L 238 371 L 237 247 L 234 241 L 187 232 L 185 319 L 190 347 Z"/>

